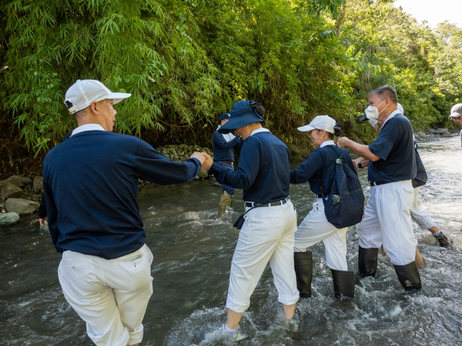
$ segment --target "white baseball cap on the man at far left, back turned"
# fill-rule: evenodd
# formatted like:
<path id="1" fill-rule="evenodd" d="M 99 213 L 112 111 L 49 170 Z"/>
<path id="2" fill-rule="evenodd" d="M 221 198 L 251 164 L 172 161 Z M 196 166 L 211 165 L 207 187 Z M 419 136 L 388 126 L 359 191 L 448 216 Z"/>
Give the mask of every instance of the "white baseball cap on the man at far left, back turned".
<path id="1" fill-rule="evenodd" d="M 78 80 L 67 89 L 64 104 L 69 109 L 69 113 L 73 114 L 89 107 L 91 102 L 100 102 L 109 98 L 116 104 L 124 98 L 130 98 L 131 95 L 131 93 L 113 93 L 99 80 Z"/>

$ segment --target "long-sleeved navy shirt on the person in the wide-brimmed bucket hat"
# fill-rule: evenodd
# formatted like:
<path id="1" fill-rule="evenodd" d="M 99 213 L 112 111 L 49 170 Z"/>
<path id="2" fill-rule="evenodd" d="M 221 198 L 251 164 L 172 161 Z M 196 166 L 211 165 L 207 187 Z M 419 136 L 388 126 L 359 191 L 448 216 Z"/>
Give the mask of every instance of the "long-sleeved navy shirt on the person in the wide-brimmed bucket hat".
<path id="1" fill-rule="evenodd" d="M 244 141 L 238 170 L 213 163 L 209 172 L 218 183 L 243 189 L 244 201 L 266 204 L 289 196 L 290 152 L 269 131 L 254 132 Z"/>

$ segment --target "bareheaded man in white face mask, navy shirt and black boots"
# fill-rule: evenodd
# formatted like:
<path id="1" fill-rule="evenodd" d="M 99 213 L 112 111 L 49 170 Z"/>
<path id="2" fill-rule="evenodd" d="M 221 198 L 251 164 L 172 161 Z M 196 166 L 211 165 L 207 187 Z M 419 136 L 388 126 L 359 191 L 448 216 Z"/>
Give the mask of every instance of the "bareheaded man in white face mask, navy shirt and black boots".
<path id="1" fill-rule="evenodd" d="M 385 85 L 369 93 L 368 119 L 377 120 L 382 129 L 371 145 L 360 145 L 346 137 L 339 147 L 352 149 L 370 160 L 368 180 L 371 196 L 364 219 L 357 225 L 358 267 L 361 277 L 375 276 L 380 246 L 390 257 L 396 274 L 406 290 L 421 289 L 416 266 L 416 245 L 411 221 L 416 176 L 416 155 L 411 122 L 398 111 L 398 96 Z"/>

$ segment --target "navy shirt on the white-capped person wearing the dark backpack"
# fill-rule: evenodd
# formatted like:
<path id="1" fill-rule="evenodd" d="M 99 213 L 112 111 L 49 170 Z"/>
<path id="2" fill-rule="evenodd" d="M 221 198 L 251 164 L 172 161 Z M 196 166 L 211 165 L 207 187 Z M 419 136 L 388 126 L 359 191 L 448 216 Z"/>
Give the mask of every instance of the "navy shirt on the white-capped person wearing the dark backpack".
<path id="1" fill-rule="evenodd" d="M 356 171 L 346 149 L 337 147 L 333 140 L 324 143 L 329 144 L 314 150 L 296 170 L 290 172 L 290 183 L 303 184 L 308 181 L 312 192 L 321 195 L 319 183 L 322 180 L 324 196 L 327 197 L 335 179 L 335 159 L 344 157 L 346 164 L 353 172 Z"/>

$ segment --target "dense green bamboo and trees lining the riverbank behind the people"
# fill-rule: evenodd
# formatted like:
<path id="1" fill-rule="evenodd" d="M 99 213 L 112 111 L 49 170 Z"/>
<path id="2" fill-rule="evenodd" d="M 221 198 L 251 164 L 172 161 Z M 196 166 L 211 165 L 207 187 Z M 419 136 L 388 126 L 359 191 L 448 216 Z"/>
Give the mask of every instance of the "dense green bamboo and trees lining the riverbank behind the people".
<path id="1" fill-rule="evenodd" d="M 1 0 L 0 176 L 41 175 L 75 127 L 63 101 L 78 79 L 132 93 L 115 131 L 154 147 L 211 147 L 218 116 L 256 100 L 301 159 L 313 148 L 296 127 L 319 114 L 371 143 L 358 119 L 383 84 L 415 131 L 452 127 L 462 29 L 418 24 L 390 0 Z"/>

